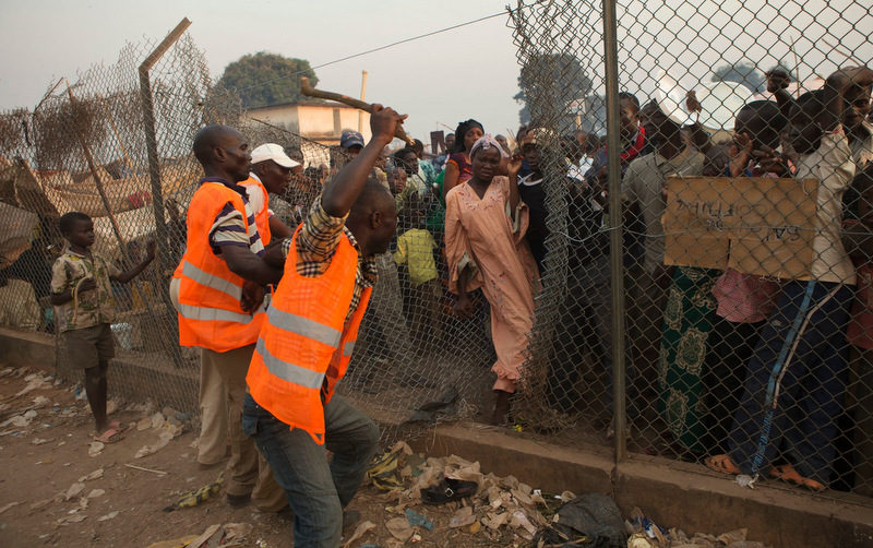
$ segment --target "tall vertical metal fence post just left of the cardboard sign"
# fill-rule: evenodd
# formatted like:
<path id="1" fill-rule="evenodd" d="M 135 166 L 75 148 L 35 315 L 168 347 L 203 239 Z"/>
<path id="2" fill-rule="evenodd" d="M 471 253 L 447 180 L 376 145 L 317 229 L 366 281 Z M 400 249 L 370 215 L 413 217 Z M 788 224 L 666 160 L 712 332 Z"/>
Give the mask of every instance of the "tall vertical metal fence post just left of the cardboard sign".
<path id="1" fill-rule="evenodd" d="M 622 251 L 621 143 L 619 141 L 619 52 L 615 0 L 603 0 L 603 59 L 609 152 L 609 252 L 612 277 L 612 420 L 615 462 L 627 455 L 624 376 L 624 265 Z"/>

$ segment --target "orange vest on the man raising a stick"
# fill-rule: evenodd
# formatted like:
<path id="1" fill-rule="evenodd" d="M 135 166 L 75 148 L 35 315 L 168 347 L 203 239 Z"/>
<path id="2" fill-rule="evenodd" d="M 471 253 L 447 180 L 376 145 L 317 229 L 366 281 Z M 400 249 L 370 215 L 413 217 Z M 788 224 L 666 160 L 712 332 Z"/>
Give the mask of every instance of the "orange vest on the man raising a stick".
<path id="1" fill-rule="evenodd" d="M 358 308 L 346 321 L 358 251 L 344 233 L 327 271 L 316 277 L 301 276 L 297 273 L 299 234 L 300 227 L 266 311 L 246 382 L 258 405 L 323 444 L 324 404 L 346 374 L 372 288 L 363 290 Z"/>

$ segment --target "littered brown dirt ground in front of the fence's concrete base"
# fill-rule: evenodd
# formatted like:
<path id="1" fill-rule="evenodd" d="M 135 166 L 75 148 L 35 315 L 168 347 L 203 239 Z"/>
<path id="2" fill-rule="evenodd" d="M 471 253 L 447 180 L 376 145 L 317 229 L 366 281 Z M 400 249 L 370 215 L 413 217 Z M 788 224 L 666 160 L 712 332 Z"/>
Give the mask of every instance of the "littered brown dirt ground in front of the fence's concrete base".
<path id="1" fill-rule="evenodd" d="M 0 361 L 0 547 L 181 548 L 193 537 L 208 537 L 208 532 L 214 531 L 211 527 L 218 528 L 217 536 L 203 544 L 211 548 L 294 546 L 289 513 L 261 513 L 253 507 L 232 509 L 220 491 L 193 508 L 165 511 L 186 491 L 214 483 L 220 470 L 199 469 L 198 431 L 184 415 L 143 403 L 110 402 L 109 407 L 110 419 L 129 425 L 124 439 L 105 445 L 94 443 L 93 419 L 81 389 L 56 381 L 45 371 L 9 367 Z M 445 474 L 450 473 L 447 464 L 435 464 L 445 463 L 446 458 L 424 462 L 422 455 L 412 455 L 408 446 L 405 449 L 410 460 L 418 458 L 418 487 L 442 477 L 443 465 Z M 402 493 L 384 493 L 368 480 L 349 508 L 361 514 L 357 525 L 370 522 L 372 528 L 354 541 L 346 544 L 344 538 L 343 548 L 399 548 L 410 544 L 422 548 L 528 547 L 530 540 L 519 532 L 524 534 L 526 527 L 533 534 L 535 522 L 548 525 L 561 504 L 553 499 L 569 500 L 564 493 L 542 493 L 543 499 L 512 476 L 483 476 L 487 470 L 480 473 L 478 463 L 455 456 L 447 461 L 456 465 L 452 474 L 464 477 L 466 469 L 482 478 L 481 492 L 468 499 L 483 497 L 483 507 L 476 508 L 478 521 L 470 515 L 474 508 L 466 501 L 443 505 L 424 505 L 410 499 L 400 502 Z M 406 462 L 406 470 L 410 462 Z M 412 489 L 410 485 L 408 489 Z M 417 492 L 418 487 L 412 490 Z M 540 497 L 536 510 L 531 502 L 535 496 Z M 517 505 L 525 499 L 526 514 Z M 505 511 L 501 516 L 482 516 L 501 504 L 501 512 Z M 409 507 L 407 511 L 426 516 L 432 528 L 411 529 L 408 520 L 421 516 L 410 517 L 404 505 Z M 471 520 L 458 522 L 465 512 Z M 505 524 L 498 517 L 506 517 Z M 458 526 L 450 526 L 453 519 Z M 405 543 L 397 540 L 388 525 L 395 534 L 399 527 L 415 536 L 404 537 L 408 538 Z M 355 527 L 349 527 L 346 538 L 354 533 Z M 681 532 L 671 529 L 670 534 L 671 538 L 661 546 L 692 546 L 692 539 Z M 219 544 L 222 537 L 224 541 Z M 746 543 L 744 529 L 720 537 L 696 534 L 693 545 L 765 548 L 761 543 Z"/>

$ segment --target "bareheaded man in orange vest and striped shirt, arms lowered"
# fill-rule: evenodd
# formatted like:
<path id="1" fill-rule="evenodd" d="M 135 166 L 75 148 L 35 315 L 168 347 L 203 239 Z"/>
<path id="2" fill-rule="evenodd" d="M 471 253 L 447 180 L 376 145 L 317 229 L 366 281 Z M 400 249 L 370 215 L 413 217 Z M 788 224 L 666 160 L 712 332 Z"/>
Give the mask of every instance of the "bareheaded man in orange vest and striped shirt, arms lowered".
<path id="1" fill-rule="evenodd" d="M 251 295 L 252 286 L 277 283 L 282 271 L 262 259 L 254 215 L 246 189 L 238 184 L 249 177 L 251 160 L 242 135 L 232 128 L 210 126 L 198 132 L 193 148 L 205 177 L 188 209 L 186 252 L 174 275 L 179 343 L 201 348 L 202 381 L 218 377 L 224 385 L 226 405 L 201 409 L 206 433 L 202 441 L 215 441 L 219 432 L 213 430 L 220 431 L 220 414 L 227 413 L 231 456 L 225 489 L 228 503 L 240 507 L 250 498 L 272 500 L 268 486 L 262 488 L 270 477 L 264 473 L 259 478 L 258 452 L 241 427 L 246 373 L 264 319 L 263 313 L 254 314 L 254 303 L 243 295 Z M 208 400 L 201 397 L 203 403 Z M 213 443 L 220 453 L 224 442 L 219 437 Z M 203 456 L 201 451 L 202 465 L 220 462 L 204 462 Z"/>

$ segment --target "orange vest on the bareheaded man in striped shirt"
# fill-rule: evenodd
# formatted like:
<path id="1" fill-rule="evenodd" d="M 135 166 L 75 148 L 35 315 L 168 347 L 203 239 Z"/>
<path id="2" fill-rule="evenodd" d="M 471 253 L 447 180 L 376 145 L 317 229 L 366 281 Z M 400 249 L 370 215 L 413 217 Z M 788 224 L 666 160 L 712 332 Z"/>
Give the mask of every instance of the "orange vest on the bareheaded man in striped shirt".
<path id="1" fill-rule="evenodd" d="M 263 314 L 240 307 L 244 279 L 227 267 L 210 246 L 210 229 L 230 202 L 249 221 L 242 196 L 220 182 L 204 181 L 188 207 L 184 255 L 174 273 L 179 283 L 179 344 L 215 352 L 241 348 L 258 341 Z"/>

